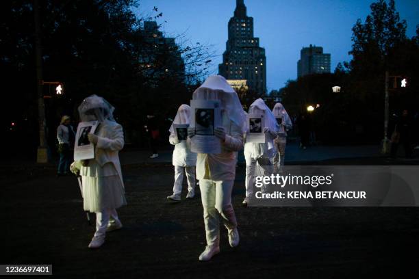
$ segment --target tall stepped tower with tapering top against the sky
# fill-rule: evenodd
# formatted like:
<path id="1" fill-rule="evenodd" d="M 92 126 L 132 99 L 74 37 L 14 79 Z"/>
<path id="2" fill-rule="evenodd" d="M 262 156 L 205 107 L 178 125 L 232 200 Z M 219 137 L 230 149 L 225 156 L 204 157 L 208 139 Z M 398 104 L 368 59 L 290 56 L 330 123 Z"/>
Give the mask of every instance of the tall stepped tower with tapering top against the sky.
<path id="1" fill-rule="evenodd" d="M 249 90 L 265 94 L 265 49 L 259 47 L 259 38 L 253 36 L 253 17 L 247 16 L 244 0 L 236 0 L 236 10 L 228 28 L 229 38 L 223 53 L 223 64 L 218 65 L 219 75 L 231 83 L 246 81 Z"/>

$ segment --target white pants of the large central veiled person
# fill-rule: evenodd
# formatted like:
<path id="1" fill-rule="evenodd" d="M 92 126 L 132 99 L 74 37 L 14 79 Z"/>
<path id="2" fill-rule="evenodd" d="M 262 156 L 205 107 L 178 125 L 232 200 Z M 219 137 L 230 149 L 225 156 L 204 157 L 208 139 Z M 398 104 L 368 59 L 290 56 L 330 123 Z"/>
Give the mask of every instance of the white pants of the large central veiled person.
<path id="1" fill-rule="evenodd" d="M 199 181 L 208 246 L 220 245 L 220 217 L 226 228 L 237 227 L 236 215 L 231 204 L 233 184 L 234 181 Z"/>

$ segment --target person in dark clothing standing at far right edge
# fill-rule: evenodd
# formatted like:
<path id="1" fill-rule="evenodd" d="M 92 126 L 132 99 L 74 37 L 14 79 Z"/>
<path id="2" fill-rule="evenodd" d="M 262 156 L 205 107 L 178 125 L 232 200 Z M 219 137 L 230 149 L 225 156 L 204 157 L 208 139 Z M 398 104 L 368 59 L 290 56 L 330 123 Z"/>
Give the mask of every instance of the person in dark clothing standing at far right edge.
<path id="1" fill-rule="evenodd" d="M 397 140 L 392 141 L 391 155 L 392 158 L 396 158 L 397 149 L 400 144 L 405 148 L 405 157 L 411 157 L 411 146 L 410 146 L 410 134 L 411 134 L 411 118 L 409 117 L 409 111 L 403 110 L 401 118 L 399 118 L 394 127 L 394 133 L 396 133 Z"/>

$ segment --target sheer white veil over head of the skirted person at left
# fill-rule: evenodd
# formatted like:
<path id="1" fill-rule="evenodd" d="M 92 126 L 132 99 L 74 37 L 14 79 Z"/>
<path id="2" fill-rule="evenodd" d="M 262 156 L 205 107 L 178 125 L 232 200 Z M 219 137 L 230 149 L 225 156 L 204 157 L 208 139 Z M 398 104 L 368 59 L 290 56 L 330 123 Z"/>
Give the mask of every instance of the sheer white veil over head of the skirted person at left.
<path id="1" fill-rule="evenodd" d="M 79 105 L 79 116 L 82 122 L 99 120 L 99 122 L 114 120 L 114 110 L 110 103 L 97 95 L 88 96 Z"/>

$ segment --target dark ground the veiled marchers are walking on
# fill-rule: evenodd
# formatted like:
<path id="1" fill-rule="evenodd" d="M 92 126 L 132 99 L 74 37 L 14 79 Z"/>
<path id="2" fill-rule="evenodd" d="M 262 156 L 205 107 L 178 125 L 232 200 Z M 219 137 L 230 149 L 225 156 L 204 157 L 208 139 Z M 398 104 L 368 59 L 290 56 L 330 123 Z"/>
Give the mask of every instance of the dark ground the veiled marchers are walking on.
<path id="1" fill-rule="evenodd" d="M 230 248 L 222 228 L 220 254 L 200 263 L 199 192 L 194 200 L 168 202 L 171 165 L 123 172 L 124 228 L 89 250 L 94 226 L 75 176 L 57 178 L 53 168 L 3 171 L 0 263 L 52 264 L 58 278 L 400 278 L 419 263 L 418 208 L 246 208 L 242 166 L 233 190 L 240 245 Z"/>

